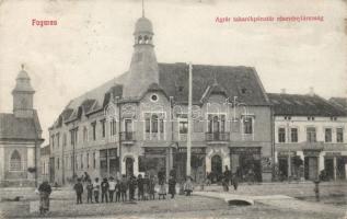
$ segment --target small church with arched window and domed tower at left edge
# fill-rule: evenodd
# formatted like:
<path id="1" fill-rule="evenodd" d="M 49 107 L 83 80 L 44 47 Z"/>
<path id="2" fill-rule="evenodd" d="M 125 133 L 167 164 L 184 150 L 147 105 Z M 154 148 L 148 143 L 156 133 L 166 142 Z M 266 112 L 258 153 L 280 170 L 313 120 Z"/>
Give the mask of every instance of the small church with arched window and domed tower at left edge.
<path id="1" fill-rule="evenodd" d="M 23 69 L 12 91 L 13 113 L 0 114 L 0 185 L 34 186 L 39 178 L 42 129 L 34 104 L 34 89 Z"/>

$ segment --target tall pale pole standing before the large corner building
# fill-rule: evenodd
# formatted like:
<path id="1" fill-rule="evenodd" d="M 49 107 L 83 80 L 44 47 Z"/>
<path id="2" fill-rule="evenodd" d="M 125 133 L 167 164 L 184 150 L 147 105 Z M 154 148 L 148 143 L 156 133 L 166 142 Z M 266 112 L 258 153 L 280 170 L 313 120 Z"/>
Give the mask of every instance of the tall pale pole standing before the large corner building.
<path id="1" fill-rule="evenodd" d="M 192 150 L 192 99 L 193 99 L 193 67 L 189 62 L 189 94 L 188 94 L 188 135 L 187 135 L 187 176 L 190 176 L 190 150 Z"/>

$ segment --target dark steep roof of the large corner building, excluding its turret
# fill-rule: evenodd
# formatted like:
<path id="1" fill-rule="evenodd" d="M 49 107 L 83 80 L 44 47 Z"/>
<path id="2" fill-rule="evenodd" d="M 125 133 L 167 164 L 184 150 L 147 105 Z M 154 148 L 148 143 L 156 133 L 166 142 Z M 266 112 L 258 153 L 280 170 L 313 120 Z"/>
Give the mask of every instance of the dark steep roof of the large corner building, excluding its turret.
<path id="1" fill-rule="evenodd" d="M 151 84 L 149 90 L 161 90 L 166 96 L 173 96 L 175 102 L 187 103 L 188 65 L 159 64 L 159 84 Z M 102 110 L 108 103 L 111 94 L 122 97 L 126 76 L 127 72 L 70 101 L 61 113 L 63 120 L 78 118 L 80 106 L 84 108 L 84 113 L 91 113 Z M 201 103 L 203 96 L 205 99 L 210 93 L 222 93 L 227 97 L 238 96 L 239 102 L 247 105 L 269 105 L 257 72 L 252 67 L 193 65 L 194 103 Z"/>

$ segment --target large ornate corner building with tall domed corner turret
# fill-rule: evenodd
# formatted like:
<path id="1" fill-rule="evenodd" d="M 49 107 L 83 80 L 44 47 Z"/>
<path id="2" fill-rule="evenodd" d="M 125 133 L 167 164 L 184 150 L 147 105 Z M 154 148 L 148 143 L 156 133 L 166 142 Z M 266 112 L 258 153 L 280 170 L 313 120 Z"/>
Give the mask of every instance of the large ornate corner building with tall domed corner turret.
<path id="1" fill-rule="evenodd" d="M 135 26 L 129 70 L 73 99 L 49 128 L 50 180 L 157 174 L 186 176 L 188 65 L 158 64 L 151 22 Z M 193 65 L 192 176 L 225 166 L 271 180 L 270 103 L 252 67 Z"/>

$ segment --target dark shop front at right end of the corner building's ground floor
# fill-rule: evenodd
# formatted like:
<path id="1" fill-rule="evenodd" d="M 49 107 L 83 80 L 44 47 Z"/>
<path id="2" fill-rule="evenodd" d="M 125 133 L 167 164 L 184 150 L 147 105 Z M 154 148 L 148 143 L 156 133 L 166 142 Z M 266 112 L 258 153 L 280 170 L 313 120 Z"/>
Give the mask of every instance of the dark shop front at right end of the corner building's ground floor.
<path id="1" fill-rule="evenodd" d="M 242 182 L 262 182 L 262 148 L 231 147 L 231 170 Z"/>

